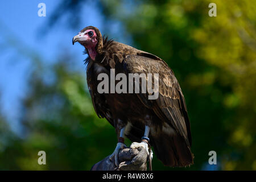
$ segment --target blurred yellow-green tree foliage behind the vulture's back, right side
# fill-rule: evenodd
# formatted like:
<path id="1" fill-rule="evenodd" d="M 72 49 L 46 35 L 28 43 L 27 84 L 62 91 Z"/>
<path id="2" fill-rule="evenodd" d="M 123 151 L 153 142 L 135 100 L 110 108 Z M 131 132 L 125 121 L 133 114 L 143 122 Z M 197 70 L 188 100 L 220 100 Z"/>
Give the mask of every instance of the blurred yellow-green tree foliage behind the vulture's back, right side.
<path id="1" fill-rule="evenodd" d="M 208 16 L 210 2 L 217 5 L 217 17 Z M 125 24 L 136 47 L 162 57 L 174 70 L 192 123 L 192 169 L 207 163 L 210 150 L 217 152 L 218 169 L 256 169 L 256 3 L 102 5 L 109 18 Z"/>

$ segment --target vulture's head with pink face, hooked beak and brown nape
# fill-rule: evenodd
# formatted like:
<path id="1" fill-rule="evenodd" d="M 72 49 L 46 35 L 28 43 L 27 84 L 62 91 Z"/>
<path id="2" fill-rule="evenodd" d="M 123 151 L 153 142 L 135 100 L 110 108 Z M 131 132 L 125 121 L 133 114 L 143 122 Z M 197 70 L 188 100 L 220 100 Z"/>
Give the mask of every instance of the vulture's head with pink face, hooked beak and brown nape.
<path id="1" fill-rule="evenodd" d="M 73 37 L 72 43 L 79 42 L 85 47 L 91 59 L 95 60 L 97 54 L 102 53 L 103 41 L 100 30 L 93 26 L 83 28 Z"/>

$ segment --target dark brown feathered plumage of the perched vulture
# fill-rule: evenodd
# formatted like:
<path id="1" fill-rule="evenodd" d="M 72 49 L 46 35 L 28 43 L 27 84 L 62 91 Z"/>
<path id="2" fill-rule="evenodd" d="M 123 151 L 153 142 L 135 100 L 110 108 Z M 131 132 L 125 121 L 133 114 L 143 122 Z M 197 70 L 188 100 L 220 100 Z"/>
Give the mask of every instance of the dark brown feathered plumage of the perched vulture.
<path id="1" fill-rule="evenodd" d="M 132 142 L 141 142 L 144 127 L 149 125 L 151 146 L 164 165 L 184 167 L 193 164 L 187 107 L 174 72 L 158 56 L 102 38 L 100 31 L 92 26 L 85 27 L 80 34 L 86 30 L 94 30 L 97 37 L 94 47 L 96 56 L 88 53 L 86 59 L 87 82 L 97 115 L 106 118 L 115 127 L 117 134 L 123 125 L 129 123 L 126 137 Z M 86 43 L 80 43 L 85 46 L 86 52 L 93 52 Z M 98 93 L 100 81 L 97 76 L 100 73 L 110 75 L 111 68 L 115 69 L 115 74 L 146 73 L 147 77 L 147 73 L 159 73 L 158 99 L 148 100 L 148 93 Z M 148 116 L 150 123 L 146 119 Z M 118 119 L 122 122 L 117 122 Z"/>

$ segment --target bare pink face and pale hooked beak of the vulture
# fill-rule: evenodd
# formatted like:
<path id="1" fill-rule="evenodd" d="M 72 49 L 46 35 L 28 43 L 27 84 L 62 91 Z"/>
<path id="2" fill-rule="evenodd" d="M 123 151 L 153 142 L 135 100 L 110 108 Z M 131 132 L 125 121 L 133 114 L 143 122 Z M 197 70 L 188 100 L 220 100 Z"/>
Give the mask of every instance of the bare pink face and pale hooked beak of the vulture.
<path id="1" fill-rule="evenodd" d="M 79 32 L 78 35 L 73 37 L 73 44 L 79 42 L 87 49 L 95 48 L 97 44 L 97 34 L 94 30 L 88 29 L 84 32 Z"/>

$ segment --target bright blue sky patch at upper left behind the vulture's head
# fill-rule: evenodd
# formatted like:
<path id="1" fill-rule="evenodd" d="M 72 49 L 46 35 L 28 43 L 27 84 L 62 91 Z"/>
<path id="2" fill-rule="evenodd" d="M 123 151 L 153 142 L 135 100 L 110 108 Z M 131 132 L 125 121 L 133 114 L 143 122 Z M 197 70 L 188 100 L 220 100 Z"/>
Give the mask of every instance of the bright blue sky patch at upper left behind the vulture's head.
<path id="1" fill-rule="evenodd" d="M 38 16 L 38 4 L 46 4 L 46 17 Z M 77 64 L 84 71 L 82 60 L 83 48 L 72 46 L 72 37 L 79 32 L 64 25 L 64 20 L 57 23 L 45 36 L 38 35 L 39 28 L 46 24 L 49 15 L 53 13 L 60 1 L 0 1 L 0 109 L 10 123 L 11 129 L 18 131 L 20 100 L 26 96 L 29 85 L 27 78 L 31 69 L 31 60 L 21 54 L 22 49 L 29 47 L 39 53 L 44 64 L 51 63 L 60 49 L 71 49 L 76 56 Z M 81 24 L 101 28 L 103 18 L 96 4 L 84 5 Z M 65 19 L 65 15 L 63 18 Z M 80 28 L 83 28 L 82 26 Z M 13 42 L 14 40 L 14 42 Z M 18 46 L 14 48 L 13 44 Z M 21 50 L 21 51 L 19 51 Z M 52 59 L 53 58 L 53 59 Z"/>

